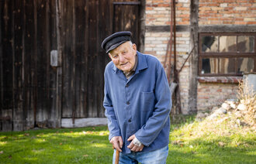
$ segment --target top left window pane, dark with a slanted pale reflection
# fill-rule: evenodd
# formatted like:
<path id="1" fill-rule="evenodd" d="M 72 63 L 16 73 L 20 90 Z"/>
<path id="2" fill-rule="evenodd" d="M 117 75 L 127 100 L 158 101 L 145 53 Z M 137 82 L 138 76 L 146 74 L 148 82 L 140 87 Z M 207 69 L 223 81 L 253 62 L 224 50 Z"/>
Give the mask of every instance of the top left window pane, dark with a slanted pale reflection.
<path id="1" fill-rule="evenodd" d="M 202 36 L 202 52 L 218 52 L 218 36 Z"/>

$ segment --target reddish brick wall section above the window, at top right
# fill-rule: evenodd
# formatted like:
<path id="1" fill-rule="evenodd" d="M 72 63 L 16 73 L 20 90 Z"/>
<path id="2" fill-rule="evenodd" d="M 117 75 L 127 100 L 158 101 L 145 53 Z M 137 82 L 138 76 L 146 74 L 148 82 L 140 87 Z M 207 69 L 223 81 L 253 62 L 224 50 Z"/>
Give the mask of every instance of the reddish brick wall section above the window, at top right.
<path id="1" fill-rule="evenodd" d="M 255 0 L 199 0 L 199 25 L 255 24 Z"/>

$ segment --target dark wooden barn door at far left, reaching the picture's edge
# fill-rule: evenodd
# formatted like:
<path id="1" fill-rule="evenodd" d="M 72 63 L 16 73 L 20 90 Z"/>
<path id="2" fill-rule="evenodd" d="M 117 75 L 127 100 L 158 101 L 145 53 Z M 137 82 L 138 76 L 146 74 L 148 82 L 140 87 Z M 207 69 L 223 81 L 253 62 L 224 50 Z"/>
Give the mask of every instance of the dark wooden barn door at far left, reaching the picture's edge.
<path id="1" fill-rule="evenodd" d="M 0 130 L 56 125 L 55 1 L 0 1 Z"/>

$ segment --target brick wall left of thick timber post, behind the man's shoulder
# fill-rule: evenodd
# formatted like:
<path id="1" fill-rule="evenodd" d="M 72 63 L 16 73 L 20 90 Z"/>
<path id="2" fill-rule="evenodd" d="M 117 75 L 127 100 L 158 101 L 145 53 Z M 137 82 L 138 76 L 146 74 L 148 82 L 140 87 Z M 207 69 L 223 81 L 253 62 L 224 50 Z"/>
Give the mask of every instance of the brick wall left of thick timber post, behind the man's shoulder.
<path id="1" fill-rule="evenodd" d="M 176 3 L 176 25 L 189 25 L 189 0 L 179 0 Z M 171 23 L 171 1 L 170 0 L 147 0 L 146 1 L 146 27 L 147 26 L 170 26 Z M 170 32 L 147 32 L 145 34 L 145 50 L 164 63 Z M 189 32 L 176 33 L 177 69 L 182 67 L 188 57 Z M 173 54 L 172 54 L 173 55 Z M 173 63 L 173 59 L 172 59 Z M 181 105 L 186 111 L 189 103 L 189 63 L 185 64 L 179 74 Z"/>

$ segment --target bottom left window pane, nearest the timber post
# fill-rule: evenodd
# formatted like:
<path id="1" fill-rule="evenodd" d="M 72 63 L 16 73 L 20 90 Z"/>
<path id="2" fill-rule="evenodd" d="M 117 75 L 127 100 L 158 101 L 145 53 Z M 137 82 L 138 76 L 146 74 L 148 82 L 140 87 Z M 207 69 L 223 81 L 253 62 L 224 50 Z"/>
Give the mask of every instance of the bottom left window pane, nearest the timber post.
<path id="1" fill-rule="evenodd" d="M 202 59 L 202 74 L 204 73 L 218 73 L 218 59 L 205 58 Z"/>

